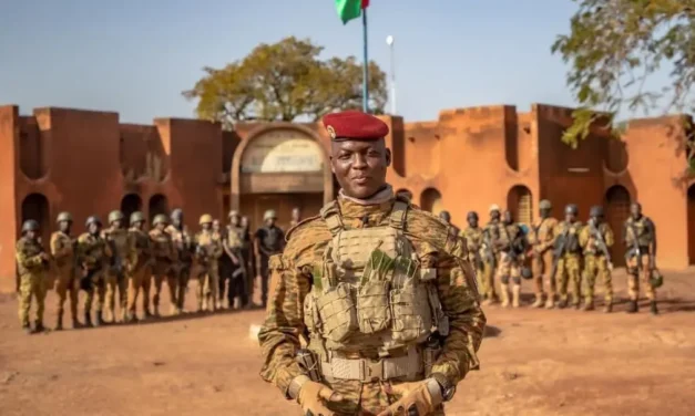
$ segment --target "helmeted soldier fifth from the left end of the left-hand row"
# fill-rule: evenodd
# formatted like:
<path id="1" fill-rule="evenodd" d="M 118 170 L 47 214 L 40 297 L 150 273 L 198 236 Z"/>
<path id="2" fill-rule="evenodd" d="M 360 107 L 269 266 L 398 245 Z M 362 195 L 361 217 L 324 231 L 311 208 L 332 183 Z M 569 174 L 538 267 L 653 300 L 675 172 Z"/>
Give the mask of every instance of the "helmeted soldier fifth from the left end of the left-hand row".
<path id="1" fill-rule="evenodd" d="M 150 240 L 150 235 L 144 230 L 145 216 L 140 211 L 135 211 L 131 214 L 130 219 L 131 228 L 129 233 L 133 242 L 134 262 L 127 275 L 125 322 L 133 323 L 137 322 L 137 295 L 140 289 L 143 289 L 143 310 L 147 313 L 150 309 L 150 284 L 147 284 L 146 291 L 144 290 L 144 284 L 146 280 L 152 278 L 154 259 L 152 257 L 152 241 Z"/>

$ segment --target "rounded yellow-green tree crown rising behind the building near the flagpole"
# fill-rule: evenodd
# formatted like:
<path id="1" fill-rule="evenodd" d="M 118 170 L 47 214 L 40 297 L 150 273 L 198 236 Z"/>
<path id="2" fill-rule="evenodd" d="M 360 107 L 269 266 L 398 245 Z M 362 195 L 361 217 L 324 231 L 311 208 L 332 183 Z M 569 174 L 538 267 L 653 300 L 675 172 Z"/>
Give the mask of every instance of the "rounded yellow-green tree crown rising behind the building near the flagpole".
<path id="1" fill-rule="evenodd" d="M 197 100 L 200 118 L 233 128 L 241 121 L 318 121 L 336 110 L 361 108 L 362 66 L 354 56 L 320 60 L 321 46 L 294 37 L 262 43 L 246 58 L 223 69 L 204 67 L 205 75 L 188 100 Z M 369 108 L 382 114 L 386 74 L 369 62 Z"/>

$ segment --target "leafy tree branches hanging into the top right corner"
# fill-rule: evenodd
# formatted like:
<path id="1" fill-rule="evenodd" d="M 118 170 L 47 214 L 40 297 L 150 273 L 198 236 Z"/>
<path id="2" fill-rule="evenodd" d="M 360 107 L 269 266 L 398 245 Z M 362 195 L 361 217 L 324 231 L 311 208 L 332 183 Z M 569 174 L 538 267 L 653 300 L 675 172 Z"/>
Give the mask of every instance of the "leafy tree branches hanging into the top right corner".
<path id="1" fill-rule="evenodd" d="M 570 65 L 566 82 L 580 103 L 563 142 L 576 146 L 590 127 L 615 123 L 624 110 L 692 112 L 695 101 L 695 0 L 573 0 L 570 33 L 552 52 Z M 647 80 L 668 71 L 668 83 Z"/>

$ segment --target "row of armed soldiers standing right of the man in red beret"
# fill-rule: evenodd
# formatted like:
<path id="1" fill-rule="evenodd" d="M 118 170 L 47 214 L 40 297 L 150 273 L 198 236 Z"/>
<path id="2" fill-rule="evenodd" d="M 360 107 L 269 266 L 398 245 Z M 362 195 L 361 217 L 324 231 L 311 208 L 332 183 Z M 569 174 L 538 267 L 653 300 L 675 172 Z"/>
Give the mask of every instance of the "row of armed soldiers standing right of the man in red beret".
<path id="1" fill-rule="evenodd" d="M 535 300 L 532 308 L 582 308 L 594 310 L 594 287 L 601 280 L 604 287 L 603 311 L 613 311 L 613 262 L 611 247 L 613 230 L 605 222 L 602 206 L 591 208 L 586 225 L 579 221 L 579 208 L 570 204 L 564 209 L 564 220 L 551 217 L 552 205 L 542 200 L 539 217 L 529 228 L 514 222 L 509 210 L 503 214 L 498 205 L 490 207 L 490 221 L 479 226 L 478 214 L 467 216 L 468 228 L 460 231 L 467 241 L 469 260 L 474 264 L 483 304 L 500 301 L 503 308 L 520 306 L 521 280 L 533 279 Z M 623 226 L 622 238 L 626 247 L 628 313 L 638 311 L 640 281 L 645 287 L 652 314 L 657 314 L 656 289 L 663 277 L 656 269 L 656 232 L 654 222 L 642 214 L 634 202 Z M 451 221 L 447 211 L 440 212 L 444 222 Z M 530 262 L 531 268 L 525 267 Z M 582 291 L 583 283 L 583 291 Z M 511 291 L 511 297 L 510 297 Z M 583 306 L 582 306 L 583 299 Z"/>

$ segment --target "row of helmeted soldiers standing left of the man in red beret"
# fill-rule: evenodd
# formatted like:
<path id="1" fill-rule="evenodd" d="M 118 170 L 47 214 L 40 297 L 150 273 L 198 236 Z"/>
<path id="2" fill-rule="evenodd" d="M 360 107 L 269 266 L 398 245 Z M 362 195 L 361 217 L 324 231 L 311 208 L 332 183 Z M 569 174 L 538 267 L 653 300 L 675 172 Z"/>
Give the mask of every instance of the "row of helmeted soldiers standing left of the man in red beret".
<path id="1" fill-rule="evenodd" d="M 298 223 L 299 216 L 295 208 L 290 225 Z M 58 331 L 63 329 L 68 298 L 73 329 L 117 321 L 136 322 L 141 293 L 144 319 L 160 316 L 164 282 L 170 289 L 171 314 L 178 315 L 184 311 L 191 278 L 197 281 L 197 312 L 222 309 L 227 284 L 227 308 L 234 308 L 236 298 L 239 309 L 251 308 L 254 306 L 251 302 L 254 270 L 260 280 L 265 308 L 267 262 L 270 256 L 284 249 L 284 231 L 275 225 L 277 216 L 274 210 L 265 212 L 264 225 L 255 232 L 253 242 L 247 219 L 244 221 L 237 211 L 231 211 L 228 219 L 229 223 L 223 230 L 218 220 L 205 214 L 198 221 L 201 230 L 191 236 L 181 209 L 174 209 L 168 217 L 156 215 L 150 231 L 145 229 L 143 212 L 130 216 L 129 229 L 123 212 L 114 210 L 109 215 L 108 228 L 102 229 L 101 220 L 91 216 L 85 221 L 85 232 L 75 239 L 71 236 L 72 216 L 61 212 L 55 219 L 58 230 L 51 235 L 50 251 L 41 243 L 39 222 L 33 219 L 24 221 L 16 246 L 22 329 L 28 333 L 44 330 L 44 300 L 52 284 L 58 294 Z M 80 290 L 85 292 L 83 323 L 78 319 Z M 37 303 L 33 327 L 29 319 L 32 298 Z M 120 305 L 119 316 L 116 303 Z"/>

